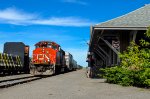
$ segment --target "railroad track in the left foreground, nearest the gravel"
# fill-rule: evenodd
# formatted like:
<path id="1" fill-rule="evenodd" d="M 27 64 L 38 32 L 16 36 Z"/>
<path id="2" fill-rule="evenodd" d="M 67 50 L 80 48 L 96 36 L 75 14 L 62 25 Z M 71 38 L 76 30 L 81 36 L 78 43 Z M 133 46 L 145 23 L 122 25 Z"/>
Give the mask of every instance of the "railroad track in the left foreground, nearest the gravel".
<path id="1" fill-rule="evenodd" d="M 42 77 L 26 76 L 26 77 L 12 78 L 12 79 L 4 79 L 4 80 L 0 80 L 0 88 L 7 88 L 10 86 L 23 84 L 23 83 L 31 82 L 31 81 L 38 80 L 38 79 L 42 79 Z"/>

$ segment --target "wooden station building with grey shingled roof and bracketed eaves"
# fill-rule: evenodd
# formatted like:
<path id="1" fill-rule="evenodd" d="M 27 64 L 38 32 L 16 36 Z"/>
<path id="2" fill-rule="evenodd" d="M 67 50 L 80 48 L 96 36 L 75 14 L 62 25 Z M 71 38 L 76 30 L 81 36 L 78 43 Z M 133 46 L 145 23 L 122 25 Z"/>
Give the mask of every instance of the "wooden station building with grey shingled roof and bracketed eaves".
<path id="1" fill-rule="evenodd" d="M 107 67 L 120 63 L 123 52 L 133 40 L 137 44 L 150 26 L 150 4 L 115 19 L 91 26 L 89 67 Z"/>

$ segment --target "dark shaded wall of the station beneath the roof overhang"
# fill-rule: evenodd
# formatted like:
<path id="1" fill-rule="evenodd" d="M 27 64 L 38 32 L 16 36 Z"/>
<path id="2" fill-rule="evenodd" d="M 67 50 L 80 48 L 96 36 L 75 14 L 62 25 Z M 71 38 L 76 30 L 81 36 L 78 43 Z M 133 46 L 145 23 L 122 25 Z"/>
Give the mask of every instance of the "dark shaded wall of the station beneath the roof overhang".
<path id="1" fill-rule="evenodd" d="M 110 48 L 110 46 L 108 46 L 102 39 L 106 40 L 111 46 L 113 46 L 112 41 L 118 40 L 120 42 L 120 48 L 115 50 L 122 53 L 127 49 L 130 42 L 133 40 L 134 34 L 137 33 L 135 41 L 139 44 L 139 40 L 144 37 L 145 31 L 106 30 L 102 33 L 102 31 L 99 30 L 96 31 L 96 33 L 97 35 L 94 35 L 95 37 L 93 37 L 94 42 L 92 42 L 92 46 L 89 46 L 95 61 L 92 65 L 104 68 L 118 65 L 120 63 L 120 59 L 118 55 Z M 107 55 L 99 47 L 101 47 Z"/>

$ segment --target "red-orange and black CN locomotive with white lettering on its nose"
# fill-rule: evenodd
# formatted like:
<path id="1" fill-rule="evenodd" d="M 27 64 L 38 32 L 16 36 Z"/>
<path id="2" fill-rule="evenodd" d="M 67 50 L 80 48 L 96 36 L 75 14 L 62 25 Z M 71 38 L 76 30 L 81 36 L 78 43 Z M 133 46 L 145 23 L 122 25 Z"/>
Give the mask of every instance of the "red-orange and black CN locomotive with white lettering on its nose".
<path id="1" fill-rule="evenodd" d="M 57 43 L 40 41 L 35 44 L 35 49 L 33 50 L 30 73 L 33 75 L 49 75 L 73 70 L 73 66 L 75 69 L 75 66 L 77 67 L 75 60 L 68 65 L 66 64 L 68 61 L 66 59 L 68 58 L 65 58 L 65 56 L 67 55 Z"/>

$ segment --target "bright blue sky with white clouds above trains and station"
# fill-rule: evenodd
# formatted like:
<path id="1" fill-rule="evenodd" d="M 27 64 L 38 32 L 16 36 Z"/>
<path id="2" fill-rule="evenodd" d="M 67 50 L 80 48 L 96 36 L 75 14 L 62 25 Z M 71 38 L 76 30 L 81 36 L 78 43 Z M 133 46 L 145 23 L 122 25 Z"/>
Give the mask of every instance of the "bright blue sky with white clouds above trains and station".
<path id="1" fill-rule="evenodd" d="M 90 25 L 149 4 L 150 0 L 0 0 L 0 52 L 8 41 L 51 40 L 86 66 Z M 30 53 L 31 54 L 31 53 Z"/>

